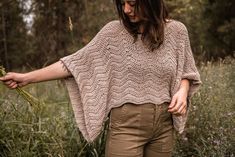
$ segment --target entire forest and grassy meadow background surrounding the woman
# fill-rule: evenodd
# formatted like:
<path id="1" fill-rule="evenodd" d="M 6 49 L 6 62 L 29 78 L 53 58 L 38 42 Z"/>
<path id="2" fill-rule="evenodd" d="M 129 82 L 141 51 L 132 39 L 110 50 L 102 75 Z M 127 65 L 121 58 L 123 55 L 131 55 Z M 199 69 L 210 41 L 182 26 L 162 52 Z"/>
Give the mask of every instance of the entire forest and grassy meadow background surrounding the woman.
<path id="1" fill-rule="evenodd" d="M 174 156 L 234 157 L 235 1 L 165 1 L 170 16 L 188 28 L 203 82 Z M 19 72 L 49 65 L 114 19 L 112 0 L 1 0 L 0 65 Z M 25 90 L 40 100 L 39 108 L 0 84 L 0 157 L 104 155 L 106 132 L 92 144 L 84 141 L 60 81 Z"/>

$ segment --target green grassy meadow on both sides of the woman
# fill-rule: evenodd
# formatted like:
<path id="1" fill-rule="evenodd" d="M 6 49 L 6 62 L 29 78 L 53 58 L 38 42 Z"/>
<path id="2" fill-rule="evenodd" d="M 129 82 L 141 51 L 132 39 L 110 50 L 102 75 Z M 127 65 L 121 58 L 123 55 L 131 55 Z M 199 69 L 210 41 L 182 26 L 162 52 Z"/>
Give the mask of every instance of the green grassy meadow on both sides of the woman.
<path id="1" fill-rule="evenodd" d="M 186 131 L 176 135 L 174 157 L 235 156 L 235 60 L 201 64 L 202 86 L 194 95 Z M 0 157 L 102 157 L 106 126 L 88 144 L 76 127 L 62 81 L 23 88 L 40 103 L 29 104 L 0 84 Z"/>

